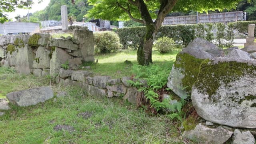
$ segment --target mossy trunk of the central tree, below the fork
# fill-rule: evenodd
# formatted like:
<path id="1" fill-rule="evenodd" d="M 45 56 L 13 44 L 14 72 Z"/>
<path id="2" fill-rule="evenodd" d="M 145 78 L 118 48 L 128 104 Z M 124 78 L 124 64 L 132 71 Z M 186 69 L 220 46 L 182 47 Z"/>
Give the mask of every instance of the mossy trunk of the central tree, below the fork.
<path id="1" fill-rule="evenodd" d="M 154 24 L 146 25 L 146 34 L 137 51 L 137 60 L 140 65 L 148 66 L 149 64 L 152 64 L 152 47 L 156 33 L 155 31 Z"/>

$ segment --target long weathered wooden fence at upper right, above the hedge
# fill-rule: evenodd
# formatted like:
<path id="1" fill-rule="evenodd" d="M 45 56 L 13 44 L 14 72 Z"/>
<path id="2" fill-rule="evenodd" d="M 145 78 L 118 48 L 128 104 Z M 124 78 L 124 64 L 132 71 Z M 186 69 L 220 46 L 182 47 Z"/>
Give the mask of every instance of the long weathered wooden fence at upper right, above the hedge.
<path id="1" fill-rule="evenodd" d="M 197 18 L 197 19 L 196 19 Z M 196 24 L 198 23 L 208 23 L 208 22 L 237 22 L 244 20 L 244 12 L 223 12 L 214 14 L 198 14 L 193 16 L 169 16 L 164 18 L 162 25 L 172 25 L 172 24 Z"/>

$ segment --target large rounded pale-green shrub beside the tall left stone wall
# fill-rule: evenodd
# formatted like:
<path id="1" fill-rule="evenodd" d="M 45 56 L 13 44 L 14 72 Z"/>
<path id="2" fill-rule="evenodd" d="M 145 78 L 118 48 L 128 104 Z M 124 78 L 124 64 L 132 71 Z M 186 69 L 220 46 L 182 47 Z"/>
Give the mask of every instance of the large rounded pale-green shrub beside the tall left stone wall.
<path id="1" fill-rule="evenodd" d="M 122 47 L 118 35 L 115 32 L 95 32 L 95 50 L 101 53 L 116 52 Z"/>

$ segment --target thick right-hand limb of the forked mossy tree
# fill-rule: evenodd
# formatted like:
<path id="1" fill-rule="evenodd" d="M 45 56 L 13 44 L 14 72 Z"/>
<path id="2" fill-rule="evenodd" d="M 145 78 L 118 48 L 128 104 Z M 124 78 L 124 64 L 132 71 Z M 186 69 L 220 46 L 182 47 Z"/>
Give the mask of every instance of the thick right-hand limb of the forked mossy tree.
<path id="1" fill-rule="evenodd" d="M 154 22 L 156 29 L 158 30 L 164 21 L 164 17 L 172 10 L 178 0 L 160 0 L 161 6 L 158 12 L 158 16 Z"/>

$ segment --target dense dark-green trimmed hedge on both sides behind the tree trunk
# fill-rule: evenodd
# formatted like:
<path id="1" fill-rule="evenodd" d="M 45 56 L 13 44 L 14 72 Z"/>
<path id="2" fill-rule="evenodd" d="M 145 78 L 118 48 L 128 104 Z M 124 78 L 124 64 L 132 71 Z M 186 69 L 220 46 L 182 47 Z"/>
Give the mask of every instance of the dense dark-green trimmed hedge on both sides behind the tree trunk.
<path id="1" fill-rule="evenodd" d="M 161 26 L 158 30 L 155 39 L 162 38 L 164 36 L 172 38 L 174 41 L 182 41 L 184 46 L 187 46 L 195 38 L 195 26 L 191 25 L 175 25 L 175 26 Z M 120 43 L 124 48 L 131 46 L 137 48 L 140 42 L 144 38 L 146 33 L 146 27 L 130 27 L 130 28 L 119 28 L 117 30 L 118 36 L 120 38 Z M 128 44 L 127 42 L 131 42 Z"/>

